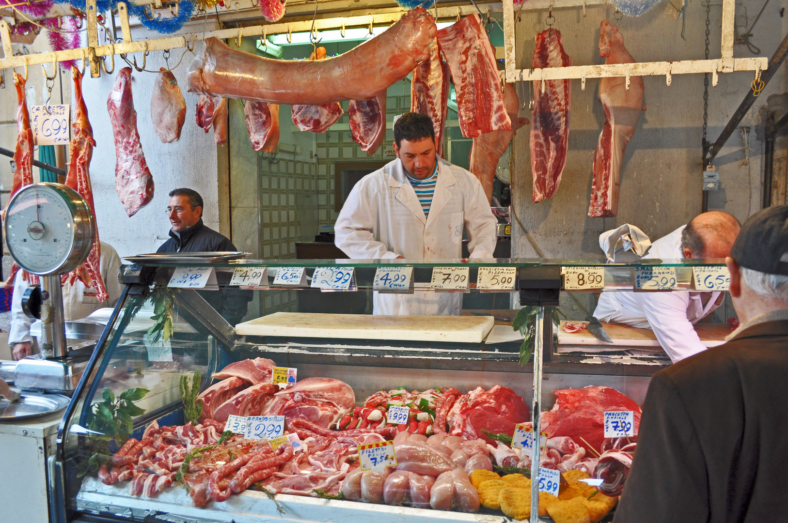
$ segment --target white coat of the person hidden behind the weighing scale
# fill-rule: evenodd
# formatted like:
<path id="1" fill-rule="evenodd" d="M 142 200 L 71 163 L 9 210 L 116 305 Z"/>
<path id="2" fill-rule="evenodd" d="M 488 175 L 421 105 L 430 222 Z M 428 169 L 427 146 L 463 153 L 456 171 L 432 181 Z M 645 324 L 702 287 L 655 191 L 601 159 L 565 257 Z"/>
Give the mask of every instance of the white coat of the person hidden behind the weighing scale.
<path id="1" fill-rule="evenodd" d="M 121 268 L 121 258 L 109 243 L 101 243 L 101 259 L 99 260 L 101 277 L 104 280 L 106 292 L 110 298 L 99 302 L 95 298 L 95 288 L 85 288 L 80 280 L 71 285 L 63 284 L 63 317 L 65 321 L 80 320 L 87 317 L 94 310 L 102 307 L 113 307 L 121 297 L 123 285 L 117 281 L 117 274 Z M 8 334 L 8 343 L 11 347 L 15 343 L 28 341 L 33 343 L 30 336 L 30 325 L 35 320 L 22 312 L 22 296 L 28 289 L 28 282 L 22 279 L 22 272 L 17 273 L 13 282 L 13 298 L 11 299 L 11 325 Z"/>

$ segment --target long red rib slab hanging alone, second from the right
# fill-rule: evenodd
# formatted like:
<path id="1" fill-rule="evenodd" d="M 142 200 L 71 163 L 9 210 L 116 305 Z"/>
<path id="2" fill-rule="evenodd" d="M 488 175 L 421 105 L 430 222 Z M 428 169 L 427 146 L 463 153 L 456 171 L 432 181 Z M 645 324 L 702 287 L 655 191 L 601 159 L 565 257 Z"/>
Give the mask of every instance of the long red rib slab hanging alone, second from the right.
<path id="1" fill-rule="evenodd" d="M 563 51 L 563 38 L 549 28 L 537 35 L 533 69 L 568 67 L 572 58 Z M 567 162 L 571 80 L 535 80 L 531 111 L 531 172 L 533 201 L 552 198 Z"/>

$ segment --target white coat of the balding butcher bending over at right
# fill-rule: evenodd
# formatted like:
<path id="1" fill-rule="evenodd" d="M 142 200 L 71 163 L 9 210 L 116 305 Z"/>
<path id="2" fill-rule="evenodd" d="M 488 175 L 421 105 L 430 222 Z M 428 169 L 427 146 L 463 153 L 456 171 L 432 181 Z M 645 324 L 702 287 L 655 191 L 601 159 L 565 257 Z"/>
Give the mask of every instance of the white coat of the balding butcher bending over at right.
<path id="1" fill-rule="evenodd" d="M 652 243 L 642 259 L 682 259 L 682 231 L 685 225 Z M 612 231 L 600 236 L 600 247 Z M 716 292 L 603 292 L 594 317 L 599 321 L 623 323 L 633 327 L 651 328 L 672 362 L 705 351 L 693 325 L 708 316 L 719 305 Z M 707 301 L 708 300 L 708 301 Z M 704 304 L 705 301 L 705 304 Z"/>

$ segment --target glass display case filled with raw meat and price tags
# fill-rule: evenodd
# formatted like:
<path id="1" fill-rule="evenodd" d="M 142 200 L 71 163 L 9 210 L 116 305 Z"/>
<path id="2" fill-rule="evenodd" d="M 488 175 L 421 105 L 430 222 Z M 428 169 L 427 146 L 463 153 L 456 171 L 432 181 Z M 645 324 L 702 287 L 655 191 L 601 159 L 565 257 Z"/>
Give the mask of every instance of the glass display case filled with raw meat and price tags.
<path id="1" fill-rule="evenodd" d="M 612 342 L 589 337 L 590 297 L 601 291 L 702 292 L 727 285 L 722 261 L 688 261 L 288 259 L 125 265 L 125 291 L 66 411 L 50 463 L 51 495 L 58 500 L 53 521 L 510 521 L 500 503 L 479 499 L 483 489 L 471 486 L 478 483 L 470 481 L 473 474 L 456 472 L 473 468 L 465 461 L 460 465 L 461 456 L 456 459 L 460 443 L 433 457 L 451 466 L 429 473 L 403 465 L 421 458 L 402 447 L 396 468 L 411 486 L 404 494 L 400 488 L 399 498 L 388 495 L 393 468 L 369 477 L 358 471 L 370 483 L 353 490 L 358 447 L 392 438 L 395 449 L 430 447 L 437 440 L 429 443 L 429 436 L 448 429 L 463 439 L 468 462 L 474 453 L 484 454 L 492 466 L 482 463 L 482 469 L 494 466 L 502 477 L 519 472 L 522 480 L 538 478 L 545 457 L 526 459 L 526 450 L 498 443 L 506 440 L 504 432 L 512 436 L 516 424 L 530 421 L 539 433 L 533 412 L 554 407 L 561 397 L 554 391 L 613 388 L 637 407 L 650 376 L 670 364 L 659 343 L 655 347 L 654 339 L 642 339 L 643 332 L 633 337 L 624 329 L 622 335 L 603 324 Z M 462 303 L 462 313 L 376 317 L 371 313 L 377 292 L 447 293 Z M 217 303 L 239 297 L 248 300 L 248 312 L 230 325 Z M 575 305 L 564 306 L 570 302 Z M 567 332 L 572 328 L 579 330 Z M 730 331 L 727 324 L 715 328 Z M 273 383 L 278 373 L 285 377 Z M 411 409 L 404 428 L 387 423 L 391 405 Z M 502 405 L 519 410 L 506 414 Z M 490 412 L 493 421 L 484 421 L 482 414 Z M 297 434 L 299 441 L 291 436 L 284 445 L 269 446 L 279 428 L 261 440 L 231 427 L 238 420 L 230 415 L 248 423 L 247 416 L 282 415 L 282 433 Z M 474 424 L 493 426 L 485 423 L 496 429 L 474 432 Z M 549 427 L 543 430 L 553 436 Z M 397 436 L 402 432 L 410 436 Z M 477 450 L 470 448 L 474 441 Z M 578 441 L 573 449 L 584 444 Z M 499 468 L 507 457 L 508 468 Z M 431 499 L 438 496 L 432 495 L 433 483 L 426 487 L 426 501 L 418 502 L 417 469 L 424 473 L 420 477 L 432 478 L 428 483 L 448 481 L 448 502 Z M 449 469 L 458 476 L 453 484 L 440 480 Z M 248 478 L 241 478 L 242 472 Z M 262 479 L 244 484 L 257 477 Z M 518 488 L 526 489 L 523 485 Z M 528 490 L 531 485 L 538 488 L 528 480 Z M 464 491 L 466 486 L 473 492 Z M 600 498 L 614 499 L 597 514 L 609 521 L 615 496 Z M 518 503 L 525 510 L 527 496 Z"/>

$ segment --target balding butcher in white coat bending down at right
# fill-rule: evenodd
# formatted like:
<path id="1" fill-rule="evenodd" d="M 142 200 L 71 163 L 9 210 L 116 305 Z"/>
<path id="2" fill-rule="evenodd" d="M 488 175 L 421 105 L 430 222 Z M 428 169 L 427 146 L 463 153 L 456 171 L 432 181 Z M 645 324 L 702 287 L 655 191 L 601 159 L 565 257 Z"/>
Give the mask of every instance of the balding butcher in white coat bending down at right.
<path id="1" fill-rule="evenodd" d="M 739 228 L 736 218 L 728 213 L 698 214 L 689 224 L 652 243 L 641 259 L 726 258 Z M 611 232 L 599 237 L 600 247 Z M 721 291 L 606 291 L 600 295 L 593 315 L 599 321 L 651 328 L 675 363 L 706 350 L 693 325 L 713 313 L 724 299 Z"/>

